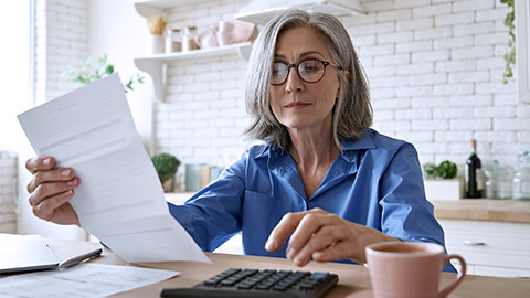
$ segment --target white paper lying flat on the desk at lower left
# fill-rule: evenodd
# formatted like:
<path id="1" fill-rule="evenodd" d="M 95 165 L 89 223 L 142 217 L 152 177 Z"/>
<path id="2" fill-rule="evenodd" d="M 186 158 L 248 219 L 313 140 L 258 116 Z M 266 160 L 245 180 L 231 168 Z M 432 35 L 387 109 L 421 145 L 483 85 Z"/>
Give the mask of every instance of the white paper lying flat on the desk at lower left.
<path id="1" fill-rule="evenodd" d="M 0 298 L 10 297 L 107 297 L 156 284 L 179 272 L 81 264 L 65 270 L 49 270 L 2 278 Z"/>

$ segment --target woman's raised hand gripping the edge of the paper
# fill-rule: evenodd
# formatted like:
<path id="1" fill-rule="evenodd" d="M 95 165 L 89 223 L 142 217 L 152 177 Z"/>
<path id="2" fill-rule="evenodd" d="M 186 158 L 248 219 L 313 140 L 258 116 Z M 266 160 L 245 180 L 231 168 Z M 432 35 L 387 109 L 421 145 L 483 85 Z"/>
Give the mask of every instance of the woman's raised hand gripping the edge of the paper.
<path id="1" fill-rule="evenodd" d="M 34 157 L 25 162 L 33 174 L 28 183 L 29 202 L 33 214 L 56 224 L 80 225 L 80 219 L 70 204 L 74 189 L 80 187 L 80 178 L 71 168 L 55 168 L 52 157 Z"/>

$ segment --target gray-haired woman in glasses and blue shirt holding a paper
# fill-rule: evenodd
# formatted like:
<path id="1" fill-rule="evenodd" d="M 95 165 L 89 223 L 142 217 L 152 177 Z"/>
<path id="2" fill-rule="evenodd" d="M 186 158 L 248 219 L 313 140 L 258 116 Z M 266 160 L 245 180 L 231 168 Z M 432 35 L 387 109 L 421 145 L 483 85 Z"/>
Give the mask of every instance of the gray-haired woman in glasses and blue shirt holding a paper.
<path id="1" fill-rule="evenodd" d="M 246 88 L 246 132 L 265 143 L 184 205 L 169 205 L 204 251 L 240 231 L 246 254 L 298 266 L 364 263 L 364 246 L 382 241 L 444 245 L 414 147 L 369 128 L 367 81 L 335 17 L 292 10 L 272 20 L 255 42 Z M 78 225 L 73 169 L 54 168 L 52 158 L 26 168 L 35 215 Z"/>

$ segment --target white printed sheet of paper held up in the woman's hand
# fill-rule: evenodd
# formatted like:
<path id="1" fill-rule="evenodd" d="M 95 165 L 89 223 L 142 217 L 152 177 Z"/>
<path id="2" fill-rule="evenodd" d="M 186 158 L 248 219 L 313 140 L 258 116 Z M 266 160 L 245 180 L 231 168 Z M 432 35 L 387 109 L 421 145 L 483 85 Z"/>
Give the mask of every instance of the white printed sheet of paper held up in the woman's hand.
<path id="1" fill-rule="evenodd" d="M 19 115 L 39 156 L 81 179 L 71 204 L 87 232 L 127 262 L 210 263 L 169 214 L 117 74 Z"/>

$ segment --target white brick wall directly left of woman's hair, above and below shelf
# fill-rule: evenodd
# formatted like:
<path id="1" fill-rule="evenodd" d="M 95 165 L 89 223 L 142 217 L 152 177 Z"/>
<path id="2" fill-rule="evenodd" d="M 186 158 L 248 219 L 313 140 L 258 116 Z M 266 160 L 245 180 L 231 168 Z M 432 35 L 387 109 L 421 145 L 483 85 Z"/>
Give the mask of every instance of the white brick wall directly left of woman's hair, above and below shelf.
<path id="1" fill-rule="evenodd" d="M 246 1 L 212 1 L 168 11 L 172 26 L 201 32 L 233 19 Z M 157 104 L 156 151 L 174 153 L 182 163 L 227 166 L 247 146 L 242 131 L 246 61 L 237 54 L 172 62 L 167 68 L 167 100 Z M 179 167 L 183 172 L 184 167 Z"/>

